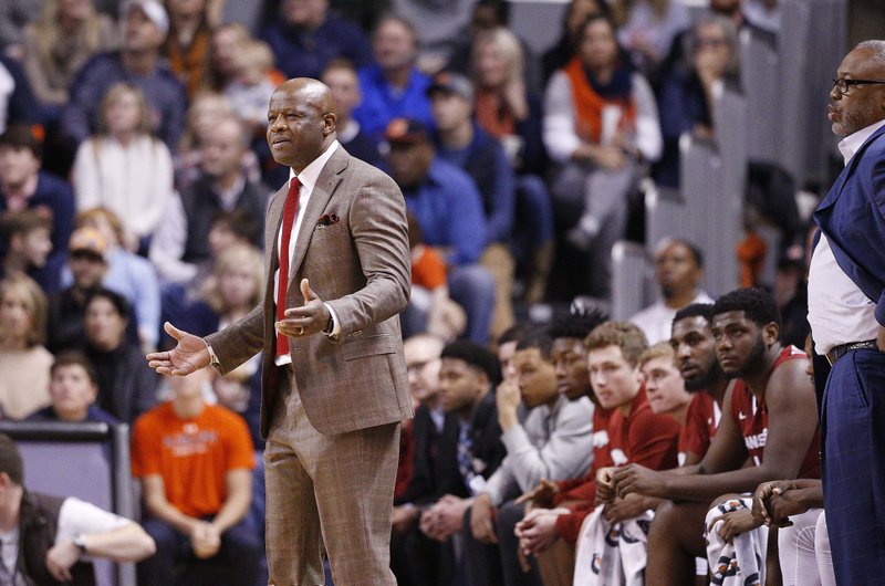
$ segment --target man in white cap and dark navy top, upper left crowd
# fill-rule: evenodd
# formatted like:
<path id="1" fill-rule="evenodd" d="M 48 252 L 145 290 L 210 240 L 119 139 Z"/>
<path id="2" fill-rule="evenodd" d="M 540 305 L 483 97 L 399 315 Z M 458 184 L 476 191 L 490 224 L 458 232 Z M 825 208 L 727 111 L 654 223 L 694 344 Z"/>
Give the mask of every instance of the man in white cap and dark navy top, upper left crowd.
<path id="1" fill-rule="evenodd" d="M 158 0 L 125 0 L 119 9 L 123 46 L 94 56 L 71 84 L 71 100 L 62 113 L 62 129 L 76 143 L 97 127 L 98 105 L 108 87 L 129 83 L 144 92 L 155 122 L 154 132 L 175 151 L 185 127 L 187 94 L 160 60 L 169 18 Z"/>

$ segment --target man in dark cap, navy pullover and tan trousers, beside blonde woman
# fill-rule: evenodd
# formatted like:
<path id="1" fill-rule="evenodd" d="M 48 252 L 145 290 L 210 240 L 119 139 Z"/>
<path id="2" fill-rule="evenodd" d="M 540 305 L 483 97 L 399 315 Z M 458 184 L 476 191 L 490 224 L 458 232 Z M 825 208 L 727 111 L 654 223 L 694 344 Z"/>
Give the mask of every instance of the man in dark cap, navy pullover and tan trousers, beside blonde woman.
<path id="1" fill-rule="evenodd" d="M 476 182 L 486 212 L 486 248 L 480 264 L 494 276 L 491 335 L 513 325 L 510 303 L 516 261 L 508 247 L 513 229 L 516 176 L 501 145 L 473 122 L 473 85 L 464 75 L 442 71 L 427 90 L 439 158 L 464 169 Z"/>

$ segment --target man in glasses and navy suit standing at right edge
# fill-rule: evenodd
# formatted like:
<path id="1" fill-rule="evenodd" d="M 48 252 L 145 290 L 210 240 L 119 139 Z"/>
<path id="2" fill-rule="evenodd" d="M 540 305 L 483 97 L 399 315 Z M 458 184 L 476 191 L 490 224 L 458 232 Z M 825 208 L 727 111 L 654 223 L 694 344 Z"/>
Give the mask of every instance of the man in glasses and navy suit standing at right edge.
<path id="1" fill-rule="evenodd" d="M 885 575 L 885 41 L 839 66 L 827 117 L 845 168 L 814 212 L 809 323 L 832 365 L 822 409 L 824 509 L 839 584 Z"/>

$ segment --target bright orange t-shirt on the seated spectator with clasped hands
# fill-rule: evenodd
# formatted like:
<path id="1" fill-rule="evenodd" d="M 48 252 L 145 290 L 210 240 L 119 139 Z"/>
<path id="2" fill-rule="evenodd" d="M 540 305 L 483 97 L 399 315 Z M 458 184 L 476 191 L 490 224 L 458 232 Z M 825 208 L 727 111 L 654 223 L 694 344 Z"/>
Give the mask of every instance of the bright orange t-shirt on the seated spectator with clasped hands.
<path id="1" fill-rule="evenodd" d="M 180 419 L 171 402 L 135 421 L 132 473 L 159 474 L 169 504 L 194 517 L 214 515 L 227 498 L 227 473 L 254 468 L 246 421 L 233 411 L 207 405 L 194 419 Z"/>

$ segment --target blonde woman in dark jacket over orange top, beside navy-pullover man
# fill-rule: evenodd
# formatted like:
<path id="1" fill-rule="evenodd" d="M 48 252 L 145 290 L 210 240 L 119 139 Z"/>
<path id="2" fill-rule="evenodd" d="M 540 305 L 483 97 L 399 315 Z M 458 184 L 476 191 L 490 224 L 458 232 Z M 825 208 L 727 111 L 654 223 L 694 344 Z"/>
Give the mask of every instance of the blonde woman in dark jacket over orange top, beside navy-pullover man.
<path id="1" fill-rule="evenodd" d="M 523 83 L 523 53 L 519 39 L 507 29 L 480 33 L 473 45 L 477 124 L 500 140 L 517 171 L 518 251 L 533 251 L 523 259 L 531 266 L 527 303 L 543 300 L 553 263 L 553 212 L 541 177 L 546 151 L 542 142 L 541 100 Z"/>

